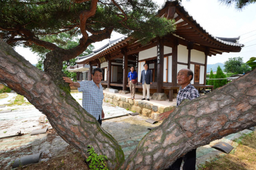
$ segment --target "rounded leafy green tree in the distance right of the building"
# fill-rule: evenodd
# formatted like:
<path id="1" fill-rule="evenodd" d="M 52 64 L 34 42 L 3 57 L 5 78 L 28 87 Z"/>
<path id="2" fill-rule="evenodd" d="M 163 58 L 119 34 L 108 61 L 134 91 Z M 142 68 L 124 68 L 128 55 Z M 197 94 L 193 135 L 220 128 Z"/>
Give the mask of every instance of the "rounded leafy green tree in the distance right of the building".
<path id="1" fill-rule="evenodd" d="M 228 58 L 228 61 L 224 62 L 224 67 L 226 73 L 244 74 L 251 70 L 248 65 L 243 63 L 242 57 Z"/>

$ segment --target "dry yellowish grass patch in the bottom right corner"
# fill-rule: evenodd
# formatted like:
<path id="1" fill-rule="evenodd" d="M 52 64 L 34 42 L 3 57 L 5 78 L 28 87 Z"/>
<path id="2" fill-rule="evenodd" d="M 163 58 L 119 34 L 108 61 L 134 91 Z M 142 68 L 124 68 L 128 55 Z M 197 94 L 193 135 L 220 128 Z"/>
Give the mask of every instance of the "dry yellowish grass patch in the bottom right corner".
<path id="1" fill-rule="evenodd" d="M 198 166 L 198 170 L 256 170 L 256 132 L 241 136 L 231 154 Z"/>

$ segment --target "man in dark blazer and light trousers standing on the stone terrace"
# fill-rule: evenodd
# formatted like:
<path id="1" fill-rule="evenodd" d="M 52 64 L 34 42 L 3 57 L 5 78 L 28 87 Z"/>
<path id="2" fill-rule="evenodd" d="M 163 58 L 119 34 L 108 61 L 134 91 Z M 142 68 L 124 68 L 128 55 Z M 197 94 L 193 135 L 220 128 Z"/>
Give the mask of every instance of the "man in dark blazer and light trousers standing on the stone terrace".
<path id="1" fill-rule="evenodd" d="M 140 84 L 142 84 L 143 88 L 143 97 L 141 100 L 146 99 L 146 90 L 147 90 L 147 100 L 149 101 L 149 88 L 150 84 L 152 84 L 152 71 L 148 69 L 148 64 L 145 63 L 144 65 L 144 70 L 141 71 L 140 75 Z"/>

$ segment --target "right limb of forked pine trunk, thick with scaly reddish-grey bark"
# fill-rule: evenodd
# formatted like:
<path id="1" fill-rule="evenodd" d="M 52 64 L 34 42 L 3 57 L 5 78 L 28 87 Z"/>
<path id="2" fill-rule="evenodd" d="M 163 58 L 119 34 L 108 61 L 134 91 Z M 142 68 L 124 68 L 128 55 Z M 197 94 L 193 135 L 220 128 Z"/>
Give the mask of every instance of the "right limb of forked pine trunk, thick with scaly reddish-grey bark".
<path id="1" fill-rule="evenodd" d="M 167 168 L 188 151 L 256 125 L 256 69 L 192 101 L 146 134 L 122 170 Z"/>

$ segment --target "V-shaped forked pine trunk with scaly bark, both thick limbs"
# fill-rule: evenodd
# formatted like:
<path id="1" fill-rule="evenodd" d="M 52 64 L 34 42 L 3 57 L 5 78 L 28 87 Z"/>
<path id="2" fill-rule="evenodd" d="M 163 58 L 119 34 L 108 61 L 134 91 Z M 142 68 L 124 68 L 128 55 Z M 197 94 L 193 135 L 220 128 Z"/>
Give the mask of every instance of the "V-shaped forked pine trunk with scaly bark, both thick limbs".
<path id="1" fill-rule="evenodd" d="M 256 69 L 212 93 L 182 104 L 150 131 L 125 160 L 119 144 L 46 73 L 0 42 L 0 81 L 42 111 L 69 144 L 87 156 L 88 144 L 108 156 L 110 169 L 158 170 L 186 152 L 256 125 Z M 64 82 L 63 82 L 64 83 Z M 61 88 L 64 90 L 60 89 Z"/>

